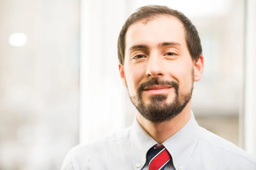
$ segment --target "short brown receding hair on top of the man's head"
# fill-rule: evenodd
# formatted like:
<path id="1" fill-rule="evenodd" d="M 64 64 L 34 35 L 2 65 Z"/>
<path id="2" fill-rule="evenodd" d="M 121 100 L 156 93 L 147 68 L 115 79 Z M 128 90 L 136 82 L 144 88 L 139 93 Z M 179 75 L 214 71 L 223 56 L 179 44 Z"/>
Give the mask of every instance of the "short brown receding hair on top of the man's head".
<path id="1" fill-rule="evenodd" d="M 117 44 L 118 59 L 120 64 L 124 64 L 125 35 L 128 28 L 138 21 L 145 20 L 145 23 L 147 23 L 149 20 L 163 15 L 176 17 L 181 21 L 181 23 L 183 23 L 186 31 L 186 44 L 189 49 L 189 54 L 194 61 L 198 61 L 199 56 L 202 54 L 202 46 L 198 31 L 192 22 L 183 13 L 177 10 L 168 8 L 167 6 L 150 5 L 138 8 L 136 12 L 131 14 L 131 16 L 125 21 L 125 24 L 120 31 Z"/>

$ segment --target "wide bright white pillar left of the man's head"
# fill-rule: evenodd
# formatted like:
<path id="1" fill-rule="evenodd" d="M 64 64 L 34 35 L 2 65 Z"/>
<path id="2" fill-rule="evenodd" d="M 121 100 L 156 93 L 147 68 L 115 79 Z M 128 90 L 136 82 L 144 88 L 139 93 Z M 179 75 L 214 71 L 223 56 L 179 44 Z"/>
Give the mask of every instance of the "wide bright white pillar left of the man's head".
<path id="1" fill-rule="evenodd" d="M 80 143 L 125 127 L 117 38 L 126 0 L 81 0 Z"/>

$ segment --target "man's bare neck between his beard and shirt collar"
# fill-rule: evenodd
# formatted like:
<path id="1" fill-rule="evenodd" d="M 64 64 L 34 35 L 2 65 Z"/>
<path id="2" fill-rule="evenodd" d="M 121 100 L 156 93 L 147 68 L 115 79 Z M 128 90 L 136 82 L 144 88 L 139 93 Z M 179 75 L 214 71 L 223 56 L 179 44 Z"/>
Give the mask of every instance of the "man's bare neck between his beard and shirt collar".
<path id="1" fill-rule="evenodd" d="M 191 116 L 191 102 L 189 102 L 183 111 L 170 121 L 161 123 L 152 123 L 145 119 L 139 112 L 136 113 L 137 120 L 143 129 L 153 138 L 158 144 L 162 144 L 175 133 L 177 133 Z"/>

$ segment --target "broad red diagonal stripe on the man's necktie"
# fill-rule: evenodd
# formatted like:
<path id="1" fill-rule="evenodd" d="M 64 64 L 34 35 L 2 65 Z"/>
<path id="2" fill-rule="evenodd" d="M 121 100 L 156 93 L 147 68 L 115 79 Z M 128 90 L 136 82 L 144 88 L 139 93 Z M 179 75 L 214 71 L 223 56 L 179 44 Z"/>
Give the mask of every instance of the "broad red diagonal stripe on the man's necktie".
<path id="1" fill-rule="evenodd" d="M 171 159 L 169 152 L 164 149 L 161 153 L 159 153 L 149 164 L 148 170 L 158 170 L 163 166 L 167 161 Z"/>

